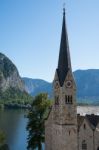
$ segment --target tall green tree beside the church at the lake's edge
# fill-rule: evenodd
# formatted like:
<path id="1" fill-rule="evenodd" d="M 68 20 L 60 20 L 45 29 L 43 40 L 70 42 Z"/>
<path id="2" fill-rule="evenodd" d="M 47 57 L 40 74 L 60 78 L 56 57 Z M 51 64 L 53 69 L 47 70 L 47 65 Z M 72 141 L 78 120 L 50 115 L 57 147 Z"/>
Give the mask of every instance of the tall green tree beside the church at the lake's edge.
<path id="1" fill-rule="evenodd" d="M 27 130 L 29 135 L 27 149 L 34 150 L 38 148 L 38 150 L 42 150 L 42 143 L 45 139 L 44 124 L 50 105 L 51 102 L 48 100 L 47 94 L 41 93 L 35 97 L 28 114 Z"/>

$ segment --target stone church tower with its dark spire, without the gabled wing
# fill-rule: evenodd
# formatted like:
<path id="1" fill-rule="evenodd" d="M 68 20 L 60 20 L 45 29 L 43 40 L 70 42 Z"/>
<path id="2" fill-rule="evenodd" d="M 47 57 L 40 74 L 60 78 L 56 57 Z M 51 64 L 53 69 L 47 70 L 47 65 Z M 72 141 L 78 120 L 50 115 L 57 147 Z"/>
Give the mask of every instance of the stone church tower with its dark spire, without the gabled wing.
<path id="1" fill-rule="evenodd" d="M 77 150 L 76 84 L 71 68 L 65 9 L 53 89 L 54 104 L 45 123 L 45 149 Z"/>

